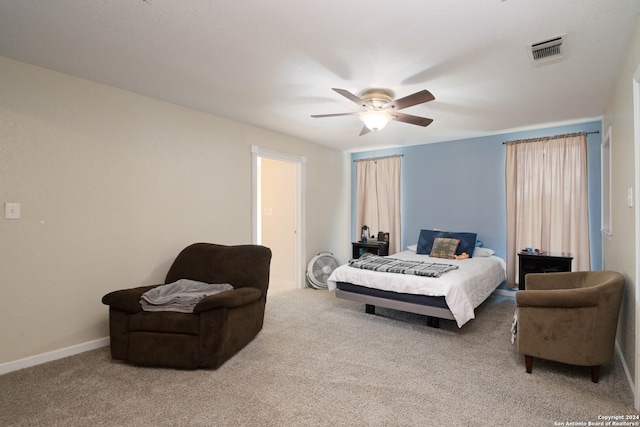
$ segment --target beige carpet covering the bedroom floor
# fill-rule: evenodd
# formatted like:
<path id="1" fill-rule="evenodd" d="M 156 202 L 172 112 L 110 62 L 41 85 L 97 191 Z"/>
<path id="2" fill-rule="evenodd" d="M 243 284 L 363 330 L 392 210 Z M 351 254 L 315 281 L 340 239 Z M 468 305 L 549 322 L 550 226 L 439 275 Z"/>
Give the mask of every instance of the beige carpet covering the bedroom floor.
<path id="1" fill-rule="evenodd" d="M 0 377 L 2 426 L 554 426 L 634 414 L 620 362 L 536 360 L 510 342 L 513 300 L 462 329 L 336 299 L 270 295 L 260 335 L 217 371 L 129 366 L 108 349 Z"/>

